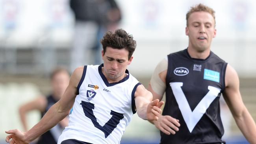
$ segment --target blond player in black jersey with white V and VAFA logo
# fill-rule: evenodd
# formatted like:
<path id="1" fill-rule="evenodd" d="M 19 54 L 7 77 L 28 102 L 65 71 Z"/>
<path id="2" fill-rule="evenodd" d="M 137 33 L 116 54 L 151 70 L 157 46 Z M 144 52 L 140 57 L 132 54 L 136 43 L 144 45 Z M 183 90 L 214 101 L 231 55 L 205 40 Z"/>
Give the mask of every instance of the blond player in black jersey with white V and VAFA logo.
<path id="1" fill-rule="evenodd" d="M 256 144 L 255 122 L 241 98 L 236 70 L 210 50 L 216 36 L 215 11 L 198 4 L 186 20 L 188 47 L 160 61 L 148 85 L 153 100 L 166 94 L 162 116 L 151 121 L 160 129 L 160 143 L 225 143 L 219 103 L 223 93 L 237 126 L 250 144 Z"/>

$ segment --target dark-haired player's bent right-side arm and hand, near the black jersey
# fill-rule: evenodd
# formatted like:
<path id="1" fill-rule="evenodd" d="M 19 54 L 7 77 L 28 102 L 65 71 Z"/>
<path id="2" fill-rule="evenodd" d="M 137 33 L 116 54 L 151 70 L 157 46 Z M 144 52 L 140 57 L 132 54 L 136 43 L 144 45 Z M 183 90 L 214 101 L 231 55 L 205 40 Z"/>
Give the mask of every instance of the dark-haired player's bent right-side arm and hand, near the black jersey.
<path id="1" fill-rule="evenodd" d="M 152 94 L 143 85 L 139 85 L 134 94 L 137 114 L 143 120 L 157 120 L 161 114 L 163 101 L 152 101 Z"/>

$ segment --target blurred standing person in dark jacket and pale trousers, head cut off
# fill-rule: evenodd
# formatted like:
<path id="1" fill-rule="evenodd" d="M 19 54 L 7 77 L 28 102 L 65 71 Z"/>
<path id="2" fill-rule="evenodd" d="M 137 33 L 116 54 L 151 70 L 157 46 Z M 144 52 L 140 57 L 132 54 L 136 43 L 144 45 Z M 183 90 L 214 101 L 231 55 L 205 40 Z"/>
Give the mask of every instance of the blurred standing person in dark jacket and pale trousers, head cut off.
<path id="1" fill-rule="evenodd" d="M 115 31 L 121 12 L 115 0 L 70 0 L 74 12 L 74 40 L 70 49 L 70 70 L 84 64 L 102 63 L 100 39 Z"/>

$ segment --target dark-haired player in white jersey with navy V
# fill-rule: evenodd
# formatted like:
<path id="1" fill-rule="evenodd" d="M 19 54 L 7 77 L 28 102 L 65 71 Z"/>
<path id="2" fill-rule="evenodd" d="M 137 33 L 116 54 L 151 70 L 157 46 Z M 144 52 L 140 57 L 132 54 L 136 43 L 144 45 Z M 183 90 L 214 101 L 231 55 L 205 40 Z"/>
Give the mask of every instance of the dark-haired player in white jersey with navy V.
<path id="1" fill-rule="evenodd" d="M 76 68 L 61 99 L 27 132 L 13 129 L 6 142 L 28 144 L 69 115 L 69 126 L 58 144 L 118 144 L 133 114 L 157 120 L 163 102 L 126 69 L 136 47 L 132 35 L 122 29 L 108 31 L 101 40 L 101 65 Z M 10 140 L 11 139 L 11 140 Z"/>

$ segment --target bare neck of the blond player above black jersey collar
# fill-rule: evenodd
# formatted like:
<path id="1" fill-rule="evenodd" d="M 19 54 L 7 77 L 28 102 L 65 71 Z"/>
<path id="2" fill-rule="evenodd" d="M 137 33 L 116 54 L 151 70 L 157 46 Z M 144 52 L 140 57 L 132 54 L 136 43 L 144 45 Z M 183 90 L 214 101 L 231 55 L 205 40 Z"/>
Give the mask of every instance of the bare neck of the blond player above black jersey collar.
<path id="1" fill-rule="evenodd" d="M 189 53 L 190 57 L 195 58 L 195 59 L 206 59 L 210 55 L 210 48 L 203 50 L 203 51 L 198 51 L 195 50 L 194 48 L 187 48 L 187 52 Z"/>

